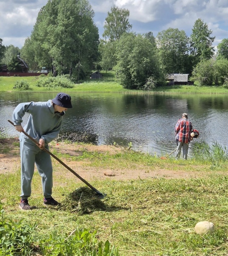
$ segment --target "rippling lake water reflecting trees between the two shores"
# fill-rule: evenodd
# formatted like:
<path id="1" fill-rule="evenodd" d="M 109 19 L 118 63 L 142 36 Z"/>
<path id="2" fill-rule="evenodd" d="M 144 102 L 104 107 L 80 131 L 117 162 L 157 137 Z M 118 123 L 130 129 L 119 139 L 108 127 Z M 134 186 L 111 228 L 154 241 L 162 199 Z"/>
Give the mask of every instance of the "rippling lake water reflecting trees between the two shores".
<path id="1" fill-rule="evenodd" d="M 70 93 L 72 109 L 64 116 L 61 132 L 93 134 L 97 145 L 132 144 L 140 150 L 158 156 L 172 152 L 176 147 L 174 128 L 182 113 L 189 114 L 193 128 L 200 132 L 189 146 L 189 156 L 195 142 L 211 145 L 218 142 L 228 147 L 227 95 L 150 94 L 150 93 Z M 1 92 L 0 132 L 19 136 L 7 122 L 12 120 L 14 108 L 22 102 L 47 101 L 53 92 Z M 25 115 L 26 121 L 28 114 Z M 23 125 L 23 124 L 22 124 Z"/>

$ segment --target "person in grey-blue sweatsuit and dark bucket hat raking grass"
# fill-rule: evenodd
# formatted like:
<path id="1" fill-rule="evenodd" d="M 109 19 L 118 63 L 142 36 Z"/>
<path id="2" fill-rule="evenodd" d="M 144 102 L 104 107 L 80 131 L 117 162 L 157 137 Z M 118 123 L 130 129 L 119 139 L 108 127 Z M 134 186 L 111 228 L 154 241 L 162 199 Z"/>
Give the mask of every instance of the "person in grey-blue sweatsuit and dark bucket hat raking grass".
<path id="1" fill-rule="evenodd" d="M 16 130 L 21 133 L 19 136 L 21 157 L 21 200 L 19 208 L 22 210 L 31 210 L 28 198 L 31 196 L 34 164 L 36 164 L 39 175 L 42 177 L 44 205 L 57 206 L 60 204 L 52 198 L 52 162 L 50 155 L 42 148 L 45 147 L 48 150 L 48 143 L 58 136 L 63 116 L 69 108 L 72 108 L 70 95 L 58 93 L 53 100 L 20 103 L 14 109 L 13 122 Z M 29 113 L 30 116 L 23 128 L 22 118 L 25 113 Z M 34 138 L 39 147 L 23 132 Z"/>

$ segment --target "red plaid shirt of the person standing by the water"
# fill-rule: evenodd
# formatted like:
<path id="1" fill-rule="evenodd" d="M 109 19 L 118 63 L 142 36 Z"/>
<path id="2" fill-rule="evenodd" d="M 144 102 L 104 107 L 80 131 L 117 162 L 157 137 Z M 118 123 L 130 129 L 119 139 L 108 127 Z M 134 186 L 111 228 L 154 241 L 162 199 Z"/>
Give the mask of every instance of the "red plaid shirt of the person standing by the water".
<path id="1" fill-rule="evenodd" d="M 175 135 L 178 141 L 189 143 L 192 132 L 192 123 L 186 118 L 178 120 L 175 126 Z"/>

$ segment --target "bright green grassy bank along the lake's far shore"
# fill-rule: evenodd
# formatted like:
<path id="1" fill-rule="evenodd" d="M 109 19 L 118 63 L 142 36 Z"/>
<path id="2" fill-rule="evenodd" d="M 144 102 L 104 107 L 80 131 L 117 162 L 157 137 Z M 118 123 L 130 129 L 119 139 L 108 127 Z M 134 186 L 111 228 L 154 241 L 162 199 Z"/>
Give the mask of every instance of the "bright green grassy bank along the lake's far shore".
<path id="1" fill-rule="evenodd" d="M 0 92 L 11 92 L 17 91 L 14 89 L 14 85 L 16 81 L 25 80 L 28 81 L 30 89 L 28 90 L 31 92 L 122 92 L 122 93 L 135 93 L 135 94 L 144 94 L 144 93 L 201 93 L 201 94 L 227 94 L 228 89 L 223 87 L 199 87 L 199 86 L 163 86 L 154 89 L 153 91 L 139 91 L 139 90 L 128 90 L 123 89 L 122 86 L 117 83 L 114 79 L 114 74 L 109 72 L 106 74 L 106 78 L 95 81 L 95 80 L 87 80 L 80 84 L 75 84 L 73 88 L 66 89 L 66 88 L 44 88 L 44 87 L 37 87 L 36 82 L 39 77 L 1 77 L 0 76 Z"/>

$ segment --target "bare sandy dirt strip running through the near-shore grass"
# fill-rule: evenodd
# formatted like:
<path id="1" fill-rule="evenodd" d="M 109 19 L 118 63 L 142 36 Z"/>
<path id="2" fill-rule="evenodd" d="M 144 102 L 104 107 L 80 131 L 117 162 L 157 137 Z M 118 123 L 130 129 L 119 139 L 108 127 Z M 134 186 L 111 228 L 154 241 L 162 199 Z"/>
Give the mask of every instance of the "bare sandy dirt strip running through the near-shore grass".
<path id="1" fill-rule="evenodd" d="M 50 146 L 51 152 L 58 152 L 63 154 L 68 154 L 70 156 L 78 156 L 82 150 L 87 150 L 90 152 L 100 152 L 116 154 L 119 153 L 122 148 L 114 147 L 111 145 L 72 145 L 65 144 L 64 142 L 56 143 Z M 55 154 L 55 153 L 54 153 Z M 102 167 L 88 167 L 85 165 L 85 160 L 83 161 L 70 161 L 69 159 L 61 159 L 65 164 L 67 164 L 72 170 L 78 173 L 86 180 L 92 180 L 97 178 L 101 179 L 111 179 L 111 180 L 127 180 L 127 179 L 143 179 L 143 178 L 197 178 L 205 176 L 206 173 L 191 171 L 186 172 L 183 170 L 170 170 L 167 167 L 153 167 L 151 170 L 145 170 L 144 167 L 139 166 L 134 168 L 134 170 L 118 170 L 116 169 L 104 169 Z M 164 160 L 165 161 L 165 160 Z M 64 168 L 55 159 L 53 159 L 53 166 L 55 171 L 61 172 Z M 20 169 L 20 158 L 19 158 L 19 140 L 18 138 L 11 139 L 0 139 L 0 173 L 10 173 L 16 172 Z M 69 172 L 68 174 L 73 175 Z"/>

